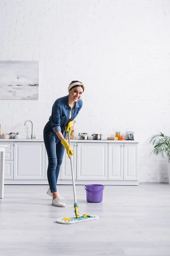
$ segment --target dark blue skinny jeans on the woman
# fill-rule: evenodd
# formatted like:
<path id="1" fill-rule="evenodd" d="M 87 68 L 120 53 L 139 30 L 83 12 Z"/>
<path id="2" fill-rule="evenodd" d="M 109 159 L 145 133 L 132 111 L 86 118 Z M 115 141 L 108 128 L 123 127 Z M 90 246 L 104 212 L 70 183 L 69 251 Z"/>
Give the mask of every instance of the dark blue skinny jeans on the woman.
<path id="1" fill-rule="evenodd" d="M 45 148 L 48 155 L 47 177 L 51 192 L 57 192 L 57 180 L 60 166 L 65 151 L 61 141 L 56 143 L 57 134 L 53 131 L 50 121 L 44 127 L 43 131 Z"/>

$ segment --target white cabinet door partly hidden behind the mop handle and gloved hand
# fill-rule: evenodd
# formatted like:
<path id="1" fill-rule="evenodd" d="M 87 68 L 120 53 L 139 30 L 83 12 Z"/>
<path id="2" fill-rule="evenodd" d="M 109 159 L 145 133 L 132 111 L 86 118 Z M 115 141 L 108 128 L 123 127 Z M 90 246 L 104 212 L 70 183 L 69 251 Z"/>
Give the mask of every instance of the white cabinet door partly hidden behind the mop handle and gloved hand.
<path id="1" fill-rule="evenodd" d="M 74 178 L 76 179 L 77 178 L 77 175 L 76 175 L 77 143 L 71 142 L 71 148 L 73 149 L 73 152 L 74 152 L 72 159 L 73 159 Z M 70 163 L 70 159 L 68 158 L 66 151 L 64 153 L 64 157 L 62 160 L 60 173 L 61 173 L 61 180 L 72 180 L 71 163 Z"/>

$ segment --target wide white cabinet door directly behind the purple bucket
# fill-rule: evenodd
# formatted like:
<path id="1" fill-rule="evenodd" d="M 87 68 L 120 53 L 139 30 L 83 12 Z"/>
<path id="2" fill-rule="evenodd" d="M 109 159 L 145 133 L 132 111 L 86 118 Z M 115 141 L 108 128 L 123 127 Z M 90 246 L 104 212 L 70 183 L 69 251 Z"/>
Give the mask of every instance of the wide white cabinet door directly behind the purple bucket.
<path id="1" fill-rule="evenodd" d="M 77 180 L 108 179 L 108 143 L 77 143 Z"/>

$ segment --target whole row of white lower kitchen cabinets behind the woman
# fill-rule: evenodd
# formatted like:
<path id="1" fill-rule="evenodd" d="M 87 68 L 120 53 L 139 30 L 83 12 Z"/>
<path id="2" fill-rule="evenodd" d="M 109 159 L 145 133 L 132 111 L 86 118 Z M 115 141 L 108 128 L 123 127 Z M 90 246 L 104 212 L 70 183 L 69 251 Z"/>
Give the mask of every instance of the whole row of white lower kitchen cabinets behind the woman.
<path id="1" fill-rule="evenodd" d="M 43 141 L 0 141 L 5 151 L 5 184 L 48 184 L 48 157 Z M 138 185 L 138 143 L 71 141 L 76 184 Z M 58 184 L 72 184 L 71 164 L 64 154 Z"/>

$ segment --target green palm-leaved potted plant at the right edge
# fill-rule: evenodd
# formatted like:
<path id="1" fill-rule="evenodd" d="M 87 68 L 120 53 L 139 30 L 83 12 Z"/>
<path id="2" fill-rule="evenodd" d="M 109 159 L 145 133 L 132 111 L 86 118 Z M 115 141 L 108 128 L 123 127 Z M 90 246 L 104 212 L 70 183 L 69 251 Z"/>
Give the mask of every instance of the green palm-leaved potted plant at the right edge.
<path id="1" fill-rule="evenodd" d="M 161 154 L 163 157 L 167 157 L 167 170 L 170 184 L 170 137 L 160 132 L 151 137 L 150 143 L 153 145 L 153 151 L 151 153 L 155 155 Z"/>

